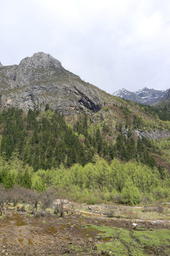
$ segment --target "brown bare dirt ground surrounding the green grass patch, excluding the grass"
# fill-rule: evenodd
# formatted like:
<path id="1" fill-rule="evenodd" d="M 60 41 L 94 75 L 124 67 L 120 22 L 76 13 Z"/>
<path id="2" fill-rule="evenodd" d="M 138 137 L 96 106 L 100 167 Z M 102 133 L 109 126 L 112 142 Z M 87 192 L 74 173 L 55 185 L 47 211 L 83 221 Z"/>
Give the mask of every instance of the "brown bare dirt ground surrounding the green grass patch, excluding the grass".
<path id="1" fill-rule="evenodd" d="M 170 229 L 168 220 L 135 222 L 137 230 L 141 232 Z M 96 250 L 96 245 L 112 241 L 113 236 L 105 237 L 105 231 L 93 226 L 123 228 L 133 232 L 132 223 L 132 220 L 106 218 L 96 213 L 81 212 L 60 218 L 52 214 L 35 217 L 9 210 L 0 220 L 0 255 L 101 255 L 101 250 Z M 128 248 L 128 243 L 122 241 L 122 245 Z"/>

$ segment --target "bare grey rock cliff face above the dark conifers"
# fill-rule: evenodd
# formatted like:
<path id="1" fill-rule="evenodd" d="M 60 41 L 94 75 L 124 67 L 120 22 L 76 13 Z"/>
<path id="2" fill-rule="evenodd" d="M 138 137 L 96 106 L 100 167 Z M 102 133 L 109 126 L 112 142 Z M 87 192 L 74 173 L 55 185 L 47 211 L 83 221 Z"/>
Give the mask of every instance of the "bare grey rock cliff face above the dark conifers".
<path id="1" fill-rule="evenodd" d="M 1 108 L 44 110 L 48 104 L 63 114 L 81 110 L 97 112 L 106 97 L 106 93 L 65 70 L 49 54 L 35 53 L 19 65 L 0 65 Z"/>

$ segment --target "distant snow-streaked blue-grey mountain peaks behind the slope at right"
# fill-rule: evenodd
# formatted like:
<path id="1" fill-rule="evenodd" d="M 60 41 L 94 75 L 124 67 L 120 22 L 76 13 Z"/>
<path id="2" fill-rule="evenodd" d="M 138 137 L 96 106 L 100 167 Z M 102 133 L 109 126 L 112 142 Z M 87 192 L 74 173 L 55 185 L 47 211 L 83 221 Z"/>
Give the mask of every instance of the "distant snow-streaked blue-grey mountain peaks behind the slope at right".
<path id="1" fill-rule="evenodd" d="M 144 87 L 142 90 L 137 90 L 137 92 L 130 92 L 125 89 L 118 90 L 116 92 L 113 92 L 113 95 L 121 97 L 125 100 L 132 100 L 143 105 L 154 105 L 157 102 L 163 100 L 164 95 L 166 95 L 167 91 L 168 90 L 154 90 Z"/>

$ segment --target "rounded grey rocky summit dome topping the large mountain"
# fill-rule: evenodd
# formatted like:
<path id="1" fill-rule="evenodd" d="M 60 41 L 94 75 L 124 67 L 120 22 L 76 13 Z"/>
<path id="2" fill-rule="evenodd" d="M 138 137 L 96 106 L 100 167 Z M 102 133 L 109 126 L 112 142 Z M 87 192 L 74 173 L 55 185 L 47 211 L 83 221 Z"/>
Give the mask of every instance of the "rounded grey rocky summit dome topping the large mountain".
<path id="1" fill-rule="evenodd" d="M 62 68 L 59 60 L 53 58 L 50 54 L 43 52 L 34 53 L 32 57 L 26 57 L 21 60 L 20 66 L 26 65 L 32 68 Z"/>

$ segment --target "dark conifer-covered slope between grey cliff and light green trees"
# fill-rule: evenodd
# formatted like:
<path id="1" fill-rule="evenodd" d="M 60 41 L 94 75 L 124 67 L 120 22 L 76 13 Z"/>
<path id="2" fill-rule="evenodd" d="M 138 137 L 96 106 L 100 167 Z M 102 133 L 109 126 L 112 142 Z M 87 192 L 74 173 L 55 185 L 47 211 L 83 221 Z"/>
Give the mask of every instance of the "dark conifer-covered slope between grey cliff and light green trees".
<path id="1" fill-rule="evenodd" d="M 151 139 L 168 138 L 170 124 L 149 117 L 149 114 L 140 116 L 128 107 L 116 106 L 74 117 L 64 118 L 54 110 L 26 113 L 8 108 L 2 111 L 0 156 L 8 160 L 13 153 L 17 154 L 35 171 L 60 164 L 84 166 L 94 161 L 95 154 L 108 162 L 116 157 L 121 161 L 133 159 L 151 167 L 169 169 L 168 161 L 159 155 Z M 68 118 L 73 125 L 68 125 Z"/>

